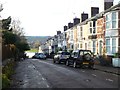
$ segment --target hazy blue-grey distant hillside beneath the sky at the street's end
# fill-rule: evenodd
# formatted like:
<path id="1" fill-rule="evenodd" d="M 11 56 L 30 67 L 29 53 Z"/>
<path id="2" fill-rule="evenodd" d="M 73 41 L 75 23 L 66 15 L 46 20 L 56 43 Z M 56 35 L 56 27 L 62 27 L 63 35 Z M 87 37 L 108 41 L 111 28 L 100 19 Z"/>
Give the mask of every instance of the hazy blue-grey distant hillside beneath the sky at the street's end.
<path id="1" fill-rule="evenodd" d="M 45 43 L 46 40 L 48 38 L 50 38 L 51 36 L 25 36 L 25 37 L 26 37 L 26 39 L 29 43 L 33 43 L 33 42 L 36 42 L 36 41 L 39 41 L 41 43 Z"/>

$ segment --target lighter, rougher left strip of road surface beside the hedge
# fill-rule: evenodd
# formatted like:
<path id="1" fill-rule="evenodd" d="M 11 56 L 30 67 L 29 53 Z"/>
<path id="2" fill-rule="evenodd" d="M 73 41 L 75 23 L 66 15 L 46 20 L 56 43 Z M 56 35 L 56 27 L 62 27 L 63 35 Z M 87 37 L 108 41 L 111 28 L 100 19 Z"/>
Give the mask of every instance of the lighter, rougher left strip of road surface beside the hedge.
<path id="1" fill-rule="evenodd" d="M 19 61 L 12 75 L 10 88 L 49 88 L 46 79 L 28 60 Z"/>

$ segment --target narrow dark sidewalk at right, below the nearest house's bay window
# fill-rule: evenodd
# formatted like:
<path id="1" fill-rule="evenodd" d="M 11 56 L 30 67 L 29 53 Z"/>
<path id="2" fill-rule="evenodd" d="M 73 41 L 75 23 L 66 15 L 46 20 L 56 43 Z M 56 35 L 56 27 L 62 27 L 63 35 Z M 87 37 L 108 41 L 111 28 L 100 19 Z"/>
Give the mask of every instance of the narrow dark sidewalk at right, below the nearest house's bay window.
<path id="1" fill-rule="evenodd" d="M 120 75 L 120 68 L 95 64 L 94 69 Z"/>

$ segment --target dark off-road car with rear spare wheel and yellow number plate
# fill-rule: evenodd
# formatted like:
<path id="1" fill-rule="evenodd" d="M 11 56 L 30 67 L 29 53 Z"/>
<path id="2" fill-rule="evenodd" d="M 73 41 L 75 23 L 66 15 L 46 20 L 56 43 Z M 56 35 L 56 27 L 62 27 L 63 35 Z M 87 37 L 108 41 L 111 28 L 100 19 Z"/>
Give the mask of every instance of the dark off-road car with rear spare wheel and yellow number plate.
<path id="1" fill-rule="evenodd" d="M 94 58 L 90 50 L 76 50 L 73 51 L 70 58 L 67 59 L 66 65 L 73 65 L 73 67 L 94 67 Z"/>

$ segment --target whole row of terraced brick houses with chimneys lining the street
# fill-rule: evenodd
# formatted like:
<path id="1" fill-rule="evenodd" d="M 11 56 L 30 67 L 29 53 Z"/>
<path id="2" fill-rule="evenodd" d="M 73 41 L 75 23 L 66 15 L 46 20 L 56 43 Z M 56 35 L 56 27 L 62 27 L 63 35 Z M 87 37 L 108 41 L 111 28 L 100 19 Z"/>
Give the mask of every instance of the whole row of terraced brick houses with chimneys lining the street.
<path id="1" fill-rule="evenodd" d="M 55 52 L 62 48 L 68 51 L 88 49 L 94 54 L 108 56 L 120 53 L 120 3 L 115 6 L 113 2 L 104 6 L 103 12 L 99 8 L 91 7 L 91 18 L 87 13 L 81 14 L 81 19 L 74 18 L 73 23 L 64 26 L 64 32 L 46 42 L 48 52 Z M 43 51 L 45 49 L 43 48 Z"/>

